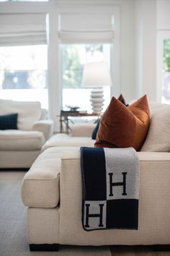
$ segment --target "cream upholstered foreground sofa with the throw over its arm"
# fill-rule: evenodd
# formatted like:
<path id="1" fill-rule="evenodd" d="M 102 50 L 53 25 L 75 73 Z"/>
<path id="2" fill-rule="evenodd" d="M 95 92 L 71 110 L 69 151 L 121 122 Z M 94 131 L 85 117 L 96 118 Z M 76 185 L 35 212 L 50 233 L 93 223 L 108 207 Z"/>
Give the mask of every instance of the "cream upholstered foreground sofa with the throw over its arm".
<path id="1" fill-rule="evenodd" d="M 88 137 L 69 139 L 67 135 L 55 135 L 48 140 L 22 182 L 22 202 L 28 207 L 30 249 L 57 250 L 58 244 L 170 244 L 169 120 L 170 106 L 151 104 L 151 126 L 146 142 L 138 152 L 138 230 L 84 231 L 79 148 L 88 146 L 86 143 L 93 146 L 94 140 L 91 142 Z"/>

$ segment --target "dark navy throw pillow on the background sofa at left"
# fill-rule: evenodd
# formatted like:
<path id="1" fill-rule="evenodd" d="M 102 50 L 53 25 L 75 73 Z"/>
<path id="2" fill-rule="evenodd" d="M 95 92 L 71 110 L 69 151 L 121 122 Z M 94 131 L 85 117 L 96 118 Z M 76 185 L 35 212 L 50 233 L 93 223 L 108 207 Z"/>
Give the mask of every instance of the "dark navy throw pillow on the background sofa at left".
<path id="1" fill-rule="evenodd" d="M 0 116 L 0 129 L 17 129 L 18 114 Z"/>

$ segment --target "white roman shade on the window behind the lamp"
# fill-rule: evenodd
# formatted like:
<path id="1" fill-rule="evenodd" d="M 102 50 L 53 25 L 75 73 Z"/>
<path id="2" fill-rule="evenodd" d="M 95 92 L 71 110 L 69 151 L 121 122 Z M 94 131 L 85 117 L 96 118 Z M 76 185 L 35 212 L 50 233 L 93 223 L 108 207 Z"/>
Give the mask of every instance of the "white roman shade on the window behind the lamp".
<path id="1" fill-rule="evenodd" d="M 66 13 L 59 15 L 61 43 L 112 43 L 112 14 Z"/>

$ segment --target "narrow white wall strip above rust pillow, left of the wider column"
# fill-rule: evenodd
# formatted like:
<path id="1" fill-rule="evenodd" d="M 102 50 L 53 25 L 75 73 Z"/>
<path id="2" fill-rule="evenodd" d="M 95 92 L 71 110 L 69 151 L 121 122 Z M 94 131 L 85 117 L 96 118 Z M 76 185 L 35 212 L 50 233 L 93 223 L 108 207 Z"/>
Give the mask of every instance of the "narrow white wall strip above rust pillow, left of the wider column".
<path id="1" fill-rule="evenodd" d="M 135 98 L 135 1 L 121 5 L 120 91 L 130 101 Z"/>

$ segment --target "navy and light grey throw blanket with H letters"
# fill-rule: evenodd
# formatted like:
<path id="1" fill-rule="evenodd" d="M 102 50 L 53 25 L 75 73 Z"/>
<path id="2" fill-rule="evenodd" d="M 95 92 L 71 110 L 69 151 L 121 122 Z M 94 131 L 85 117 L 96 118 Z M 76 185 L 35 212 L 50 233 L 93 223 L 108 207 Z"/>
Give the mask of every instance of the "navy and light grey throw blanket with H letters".
<path id="1" fill-rule="evenodd" d="M 133 148 L 81 148 L 86 231 L 138 229 L 139 163 Z"/>

